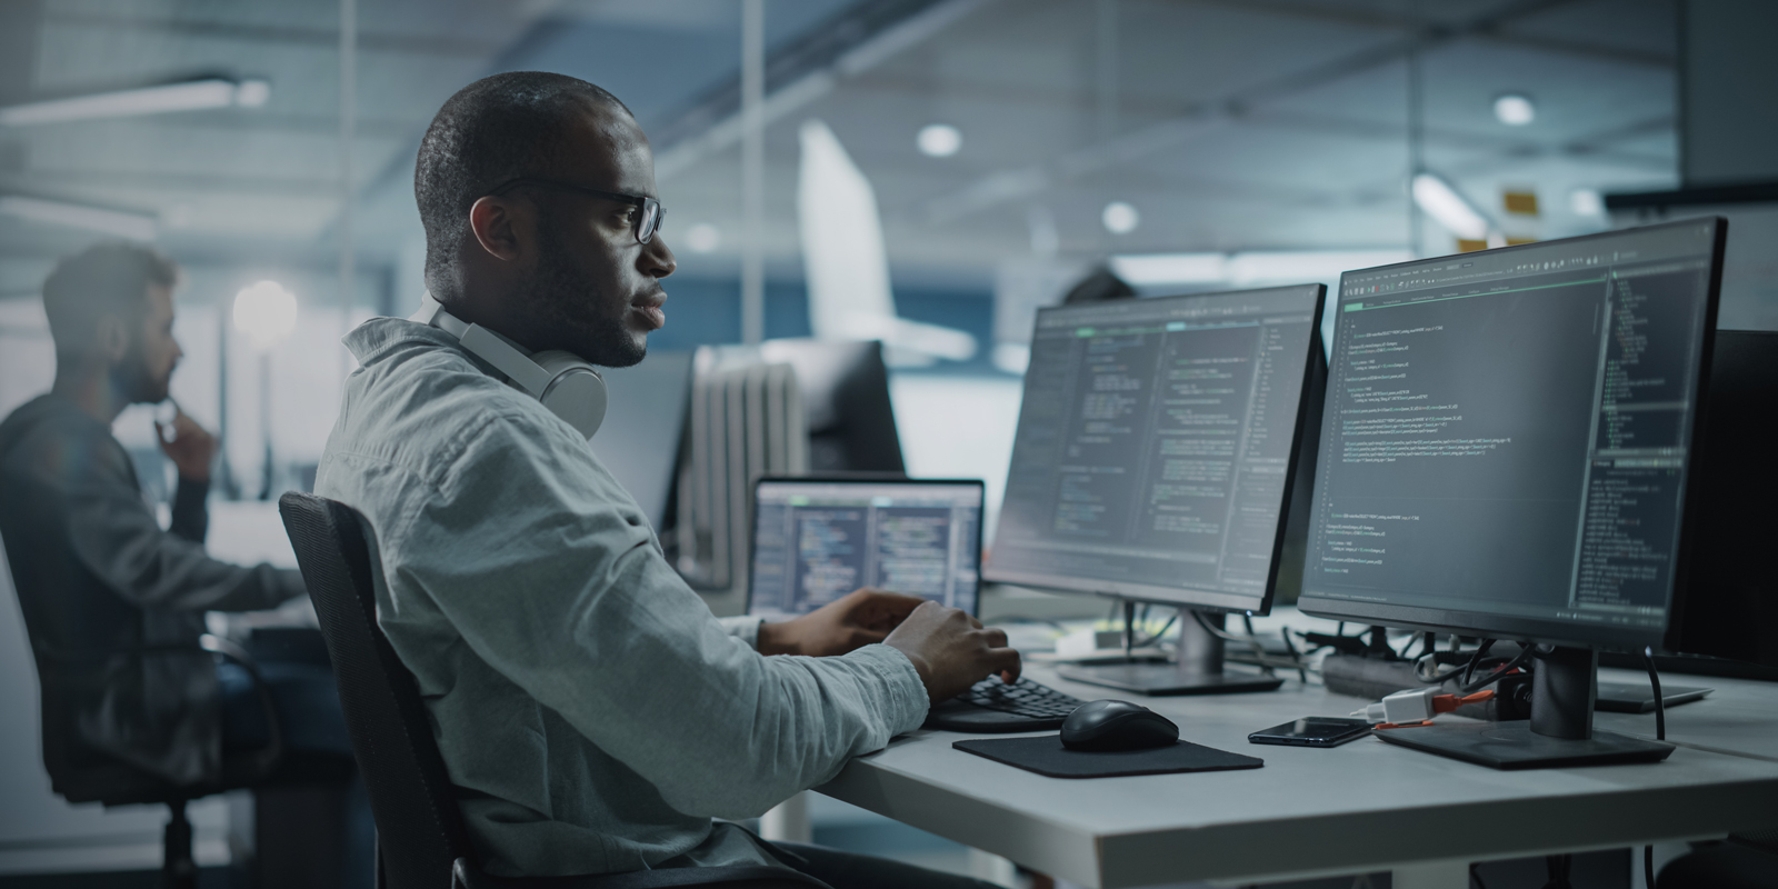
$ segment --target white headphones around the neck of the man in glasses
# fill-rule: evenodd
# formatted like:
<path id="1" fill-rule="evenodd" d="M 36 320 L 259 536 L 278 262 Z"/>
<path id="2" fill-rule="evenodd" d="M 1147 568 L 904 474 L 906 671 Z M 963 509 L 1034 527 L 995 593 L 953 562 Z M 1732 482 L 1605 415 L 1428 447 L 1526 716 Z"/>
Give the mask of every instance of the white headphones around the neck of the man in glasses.
<path id="1" fill-rule="evenodd" d="M 469 354 L 494 364 L 516 388 L 542 402 L 581 436 L 590 439 L 605 421 L 605 377 L 580 356 L 560 348 L 526 352 L 480 324 L 464 324 L 444 311 L 432 293 L 425 295 L 420 311 L 407 320 L 455 336 Z"/>

